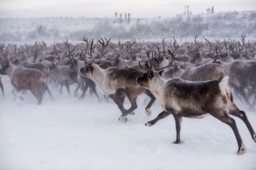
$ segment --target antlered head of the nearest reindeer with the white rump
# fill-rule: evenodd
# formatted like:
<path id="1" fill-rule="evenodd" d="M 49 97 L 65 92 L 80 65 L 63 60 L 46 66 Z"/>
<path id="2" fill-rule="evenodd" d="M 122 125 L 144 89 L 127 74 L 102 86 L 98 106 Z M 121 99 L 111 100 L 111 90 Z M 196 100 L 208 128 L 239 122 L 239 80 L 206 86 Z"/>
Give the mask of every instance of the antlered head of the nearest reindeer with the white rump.
<path id="1" fill-rule="evenodd" d="M 172 56 L 172 60 L 169 62 L 169 64 L 167 66 L 161 67 L 159 69 L 154 69 L 153 68 L 152 59 L 150 59 L 150 57 L 149 57 L 150 52 L 147 52 L 148 59 L 150 59 L 150 66 L 148 66 L 148 64 L 146 63 L 145 67 L 143 67 L 143 66 L 141 66 L 141 64 L 139 62 L 140 67 L 142 69 L 144 69 L 145 71 L 147 71 L 147 73 L 144 73 L 143 76 L 140 76 L 140 77 L 136 78 L 136 83 L 139 86 L 148 88 L 149 85 L 150 85 L 150 82 L 156 82 L 157 78 L 159 78 L 161 76 L 161 74 L 163 73 L 163 71 L 166 67 L 172 66 L 172 64 L 174 62 L 175 54 L 174 54 L 174 52 L 171 52 L 170 50 L 168 50 L 168 52 Z"/>

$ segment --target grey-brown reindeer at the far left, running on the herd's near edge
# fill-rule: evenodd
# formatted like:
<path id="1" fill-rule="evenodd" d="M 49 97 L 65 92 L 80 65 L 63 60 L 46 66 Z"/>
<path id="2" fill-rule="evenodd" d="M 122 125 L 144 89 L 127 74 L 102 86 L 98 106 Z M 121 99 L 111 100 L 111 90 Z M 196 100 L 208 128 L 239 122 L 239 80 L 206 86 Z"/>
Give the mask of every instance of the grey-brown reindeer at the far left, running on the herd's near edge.
<path id="1" fill-rule="evenodd" d="M 43 95 L 47 90 L 50 97 L 51 92 L 47 86 L 47 77 L 37 69 L 28 69 L 22 66 L 15 66 L 6 62 L 0 69 L 0 74 L 8 75 L 14 90 L 30 90 L 36 97 L 38 104 L 42 103 Z M 15 93 L 15 91 L 13 91 Z"/>

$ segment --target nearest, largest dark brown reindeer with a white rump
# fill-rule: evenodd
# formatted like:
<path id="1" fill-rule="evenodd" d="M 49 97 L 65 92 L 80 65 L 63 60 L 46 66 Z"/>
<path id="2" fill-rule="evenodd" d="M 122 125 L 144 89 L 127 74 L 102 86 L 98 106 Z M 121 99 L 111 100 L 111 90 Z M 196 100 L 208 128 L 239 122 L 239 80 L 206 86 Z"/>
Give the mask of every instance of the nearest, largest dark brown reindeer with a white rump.
<path id="1" fill-rule="evenodd" d="M 246 148 L 237 130 L 235 120 L 228 116 L 230 114 L 243 120 L 250 131 L 252 139 L 256 142 L 256 133 L 253 131 L 246 114 L 244 111 L 239 110 L 234 103 L 232 92 L 228 87 L 227 76 L 223 76 L 219 80 L 196 82 L 180 78 L 164 80 L 161 77 L 163 71 L 154 71 L 152 67 L 147 70 L 147 73 L 136 79 L 136 83 L 150 90 L 164 111 L 145 125 L 152 126 L 162 118 L 172 114 L 175 118 L 177 132 L 175 143 L 181 143 L 180 123 L 182 117 L 202 118 L 207 113 L 210 113 L 213 117 L 218 118 L 218 120 L 232 128 L 237 139 L 237 154 L 241 155 L 246 152 Z"/>

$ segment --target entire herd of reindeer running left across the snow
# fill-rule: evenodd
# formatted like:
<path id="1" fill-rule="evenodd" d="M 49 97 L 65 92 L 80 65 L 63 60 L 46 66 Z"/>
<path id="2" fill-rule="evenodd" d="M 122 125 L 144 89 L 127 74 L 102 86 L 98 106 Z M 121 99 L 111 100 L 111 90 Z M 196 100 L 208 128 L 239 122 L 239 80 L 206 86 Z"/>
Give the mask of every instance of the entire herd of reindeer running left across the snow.
<path id="1" fill-rule="evenodd" d="M 65 87 L 70 94 L 70 85 L 74 84 L 74 96 L 81 92 L 79 99 L 89 90 L 102 101 L 97 89 L 106 101 L 113 99 L 122 113 L 118 120 L 127 122 L 127 116 L 134 115 L 138 108 L 137 97 L 146 94 L 150 98 L 147 115 L 151 115 L 150 107 L 156 99 L 163 111 L 145 125 L 152 126 L 172 114 L 175 143 L 181 143 L 182 117 L 206 115 L 232 128 L 237 154 L 243 154 L 246 148 L 229 115 L 241 118 L 256 142 L 252 125 L 234 99 L 236 96 L 248 109 L 255 109 L 256 42 L 246 41 L 244 35 L 239 40 L 224 41 L 199 40 L 195 36 L 193 41 L 183 43 L 175 38 L 156 43 L 138 42 L 135 38 L 126 42 L 84 38 L 81 43 L 67 40 L 49 46 L 44 41 L 35 45 L 2 44 L 0 50 L 0 74 L 10 78 L 15 99 L 24 99 L 22 94 L 29 90 L 41 104 L 45 91 L 52 97 L 51 90 L 58 89 L 61 95 Z M 0 88 L 4 96 L 1 77 Z M 125 97 L 131 103 L 128 109 L 124 108 Z"/>

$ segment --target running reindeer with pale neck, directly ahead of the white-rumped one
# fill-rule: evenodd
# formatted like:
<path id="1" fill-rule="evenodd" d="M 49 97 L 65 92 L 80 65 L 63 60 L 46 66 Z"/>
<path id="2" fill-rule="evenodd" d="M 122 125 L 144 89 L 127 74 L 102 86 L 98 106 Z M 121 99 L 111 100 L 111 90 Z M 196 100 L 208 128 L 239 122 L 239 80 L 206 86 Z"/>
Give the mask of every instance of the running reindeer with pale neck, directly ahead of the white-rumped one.
<path id="1" fill-rule="evenodd" d="M 127 122 L 127 115 L 134 115 L 133 111 L 138 107 L 136 98 L 141 93 L 147 94 L 151 99 L 145 108 L 147 115 L 151 115 L 150 107 L 156 98 L 145 88 L 138 87 L 135 81 L 136 77 L 143 74 L 142 71 L 132 68 L 122 69 L 118 67 L 102 69 L 97 64 L 88 63 L 86 67 L 81 68 L 80 72 L 84 76 L 92 79 L 103 94 L 109 96 L 113 101 L 115 101 L 122 112 L 122 115 L 118 120 Z M 125 110 L 124 108 L 125 96 L 127 96 L 131 102 L 131 108 L 128 110 Z"/>

